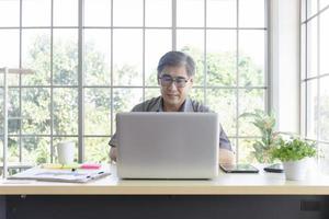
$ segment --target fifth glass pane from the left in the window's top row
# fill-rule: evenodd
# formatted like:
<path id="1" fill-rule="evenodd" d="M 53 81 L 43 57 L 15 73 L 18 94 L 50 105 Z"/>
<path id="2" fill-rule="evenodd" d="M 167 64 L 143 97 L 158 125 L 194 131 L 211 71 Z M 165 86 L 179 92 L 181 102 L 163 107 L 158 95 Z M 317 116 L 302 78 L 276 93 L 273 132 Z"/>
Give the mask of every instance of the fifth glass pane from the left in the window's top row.
<path id="1" fill-rule="evenodd" d="M 114 26 L 141 26 L 143 0 L 113 0 Z"/>

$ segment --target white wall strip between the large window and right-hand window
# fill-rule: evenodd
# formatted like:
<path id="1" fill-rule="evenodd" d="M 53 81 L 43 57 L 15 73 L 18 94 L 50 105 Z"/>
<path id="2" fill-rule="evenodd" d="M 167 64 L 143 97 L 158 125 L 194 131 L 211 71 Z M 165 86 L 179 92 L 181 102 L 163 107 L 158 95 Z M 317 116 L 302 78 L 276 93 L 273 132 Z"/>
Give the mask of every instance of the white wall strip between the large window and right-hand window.
<path id="1" fill-rule="evenodd" d="M 299 132 L 299 0 L 270 3 L 270 100 L 277 130 Z"/>

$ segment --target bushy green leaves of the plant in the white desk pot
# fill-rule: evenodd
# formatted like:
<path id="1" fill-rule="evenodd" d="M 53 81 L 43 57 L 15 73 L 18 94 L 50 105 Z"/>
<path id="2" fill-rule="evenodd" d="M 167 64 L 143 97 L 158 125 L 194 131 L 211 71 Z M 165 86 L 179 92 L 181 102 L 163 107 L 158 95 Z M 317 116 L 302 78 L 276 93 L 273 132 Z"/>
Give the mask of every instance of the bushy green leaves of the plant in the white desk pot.
<path id="1" fill-rule="evenodd" d="M 300 138 L 281 140 L 280 146 L 271 150 L 272 158 L 282 162 L 298 161 L 307 157 L 313 158 L 316 153 L 315 142 L 302 140 Z"/>

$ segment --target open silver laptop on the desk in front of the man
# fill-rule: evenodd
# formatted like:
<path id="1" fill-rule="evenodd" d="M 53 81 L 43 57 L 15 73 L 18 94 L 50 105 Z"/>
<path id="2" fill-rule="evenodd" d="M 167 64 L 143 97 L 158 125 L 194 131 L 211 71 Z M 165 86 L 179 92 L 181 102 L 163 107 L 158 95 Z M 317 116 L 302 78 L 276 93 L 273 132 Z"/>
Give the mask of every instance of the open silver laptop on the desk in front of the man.
<path id="1" fill-rule="evenodd" d="M 216 113 L 118 113 L 116 124 L 118 177 L 217 176 Z"/>

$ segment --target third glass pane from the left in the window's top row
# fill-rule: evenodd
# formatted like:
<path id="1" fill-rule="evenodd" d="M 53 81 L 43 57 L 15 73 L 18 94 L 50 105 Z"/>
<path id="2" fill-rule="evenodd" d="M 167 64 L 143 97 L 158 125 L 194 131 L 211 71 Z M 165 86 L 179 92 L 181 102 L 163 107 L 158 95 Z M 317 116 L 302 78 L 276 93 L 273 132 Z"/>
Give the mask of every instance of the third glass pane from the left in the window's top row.
<path id="1" fill-rule="evenodd" d="M 54 26 L 78 26 L 78 0 L 53 0 Z"/>

